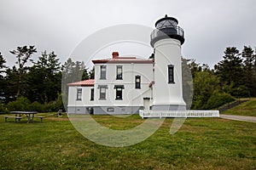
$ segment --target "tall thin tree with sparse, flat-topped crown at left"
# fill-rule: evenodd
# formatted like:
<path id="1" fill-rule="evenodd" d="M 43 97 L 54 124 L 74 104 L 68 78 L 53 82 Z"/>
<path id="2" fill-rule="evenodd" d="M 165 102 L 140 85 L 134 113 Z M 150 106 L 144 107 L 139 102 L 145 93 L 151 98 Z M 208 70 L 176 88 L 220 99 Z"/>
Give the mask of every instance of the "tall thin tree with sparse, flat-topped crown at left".
<path id="1" fill-rule="evenodd" d="M 9 51 L 11 54 L 15 54 L 17 61 L 16 64 L 18 64 L 18 81 L 17 81 L 17 94 L 16 97 L 18 98 L 20 96 L 21 91 L 21 83 L 24 83 L 24 75 L 26 73 L 27 67 L 26 63 L 28 60 L 32 61 L 30 59 L 32 57 L 32 54 L 37 53 L 37 49 L 34 46 L 23 46 L 18 47 L 16 50 Z"/>

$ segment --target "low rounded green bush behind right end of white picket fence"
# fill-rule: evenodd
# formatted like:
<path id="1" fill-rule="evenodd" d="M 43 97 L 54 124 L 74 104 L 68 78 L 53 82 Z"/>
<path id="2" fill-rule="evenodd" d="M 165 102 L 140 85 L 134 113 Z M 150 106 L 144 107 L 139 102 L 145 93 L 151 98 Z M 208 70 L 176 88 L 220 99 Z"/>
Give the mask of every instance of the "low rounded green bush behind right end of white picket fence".
<path id="1" fill-rule="evenodd" d="M 235 100 L 236 99 L 232 97 L 230 94 L 213 93 L 212 96 L 207 100 L 207 104 L 204 105 L 203 108 L 206 110 L 216 109 L 221 105 L 230 103 Z"/>

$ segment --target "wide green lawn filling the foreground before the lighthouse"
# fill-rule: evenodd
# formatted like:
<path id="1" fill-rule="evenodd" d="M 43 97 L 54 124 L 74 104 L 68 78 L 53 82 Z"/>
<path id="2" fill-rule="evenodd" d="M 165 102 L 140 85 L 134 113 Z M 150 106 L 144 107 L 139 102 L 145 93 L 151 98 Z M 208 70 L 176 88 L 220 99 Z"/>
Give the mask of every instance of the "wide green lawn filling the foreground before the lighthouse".
<path id="1" fill-rule="evenodd" d="M 134 127 L 139 116 L 93 116 L 115 129 Z M 123 119 L 122 121 L 120 121 Z M 126 120 L 126 121 L 125 121 Z M 1 169 L 255 169 L 256 124 L 190 118 L 174 135 L 166 119 L 148 139 L 123 148 L 85 139 L 67 117 L 26 123 L 0 116 Z M 130 126 L 129 126 L 130 125 Z"/>

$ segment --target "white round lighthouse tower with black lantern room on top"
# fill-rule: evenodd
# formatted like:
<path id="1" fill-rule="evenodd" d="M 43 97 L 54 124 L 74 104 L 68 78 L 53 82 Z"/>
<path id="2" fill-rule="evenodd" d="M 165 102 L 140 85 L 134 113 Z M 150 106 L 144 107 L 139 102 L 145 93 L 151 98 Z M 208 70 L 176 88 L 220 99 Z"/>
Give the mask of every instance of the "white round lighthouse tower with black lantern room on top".
<path id="1" fill-rule="evenodd" d="M 175 18 L 157 20 L 151 33 L 154 48 L 153 111 L 184 111 L 181 46 L 183 29 Z"/>

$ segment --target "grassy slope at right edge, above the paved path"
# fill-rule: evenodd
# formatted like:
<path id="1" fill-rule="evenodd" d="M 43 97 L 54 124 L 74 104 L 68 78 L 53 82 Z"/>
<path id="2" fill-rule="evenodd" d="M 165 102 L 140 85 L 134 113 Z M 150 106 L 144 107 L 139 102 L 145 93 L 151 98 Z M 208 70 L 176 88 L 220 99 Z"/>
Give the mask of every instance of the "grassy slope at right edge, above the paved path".
<path id="1" fill-rule="evenodd" d="M 239 116 L 256 116 L 256 99 L 249 99 L 247 102 L 242 103 L 241 105 L 236 105 L 236 107 L 224 111 L 223 114 Z"/>

